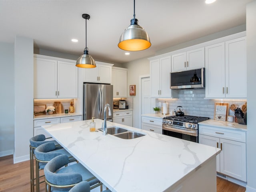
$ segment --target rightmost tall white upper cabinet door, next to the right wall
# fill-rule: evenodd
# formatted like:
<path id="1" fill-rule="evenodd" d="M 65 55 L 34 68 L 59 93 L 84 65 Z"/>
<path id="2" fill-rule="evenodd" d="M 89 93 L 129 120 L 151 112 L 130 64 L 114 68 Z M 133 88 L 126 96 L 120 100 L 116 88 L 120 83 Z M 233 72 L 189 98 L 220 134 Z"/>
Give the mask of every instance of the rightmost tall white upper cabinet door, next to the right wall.
<path id="1" fill-rule="evenodd" d="M 225 42 L 226 97 L 246 98 L 246 39 Z"/>

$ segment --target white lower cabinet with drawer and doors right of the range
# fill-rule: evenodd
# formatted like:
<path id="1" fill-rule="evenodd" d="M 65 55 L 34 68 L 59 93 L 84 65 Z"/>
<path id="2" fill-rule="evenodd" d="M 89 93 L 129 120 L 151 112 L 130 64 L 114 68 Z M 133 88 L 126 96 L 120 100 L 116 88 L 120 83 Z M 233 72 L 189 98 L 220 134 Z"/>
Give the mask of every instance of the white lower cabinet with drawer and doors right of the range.
<path id="1" fill-rule="evenodd" d="M 246 182 L 246 132 L 199 125 L 199 143 L 221 149 L 217 172 Z"/>

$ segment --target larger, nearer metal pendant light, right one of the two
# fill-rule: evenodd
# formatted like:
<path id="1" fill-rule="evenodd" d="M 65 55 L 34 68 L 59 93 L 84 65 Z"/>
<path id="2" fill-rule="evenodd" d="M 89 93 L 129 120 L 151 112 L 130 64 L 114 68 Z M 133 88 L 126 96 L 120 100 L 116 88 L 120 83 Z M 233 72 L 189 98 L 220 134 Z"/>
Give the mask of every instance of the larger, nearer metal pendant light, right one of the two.
<path id="1" fill-rule="evenodd" d="M 135 0 L 133 8 L 131 24 L 120 36 L 118 47 L 126 51 L 141 51 L 149 48 L 151 43 L 147 32 L 138 25 L 138 20 L 135 18 Z"/>

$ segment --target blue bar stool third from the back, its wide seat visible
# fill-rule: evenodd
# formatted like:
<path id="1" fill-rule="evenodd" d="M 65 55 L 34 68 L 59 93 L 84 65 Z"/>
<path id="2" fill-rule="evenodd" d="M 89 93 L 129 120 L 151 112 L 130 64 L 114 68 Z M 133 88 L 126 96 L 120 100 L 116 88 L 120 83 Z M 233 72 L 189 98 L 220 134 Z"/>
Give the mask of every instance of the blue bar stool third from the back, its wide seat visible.
<path id="1" fill-rule="evenodd" d="M 67 164 L 68 156 L 66 155 L 57 156 L 46 164 L 44 167 L 46 191 L 68 192 L 73 186 L 83 180 L 88 181 L 90 189 L 102 185 L 102 182 L 82 164 L 76 163 L 66 166 Z"/>

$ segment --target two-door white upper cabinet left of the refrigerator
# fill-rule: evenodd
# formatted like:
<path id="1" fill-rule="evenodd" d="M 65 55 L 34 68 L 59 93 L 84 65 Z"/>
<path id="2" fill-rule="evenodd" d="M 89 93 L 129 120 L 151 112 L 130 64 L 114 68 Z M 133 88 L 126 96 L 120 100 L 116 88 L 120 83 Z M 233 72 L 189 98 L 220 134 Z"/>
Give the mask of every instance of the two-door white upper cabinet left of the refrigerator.
<path id="1" fill-rule="evenodd" d="M 42 57 L 34 57 L 34 98 L 77 98 L 78 68 L 76 62 Z"/>

